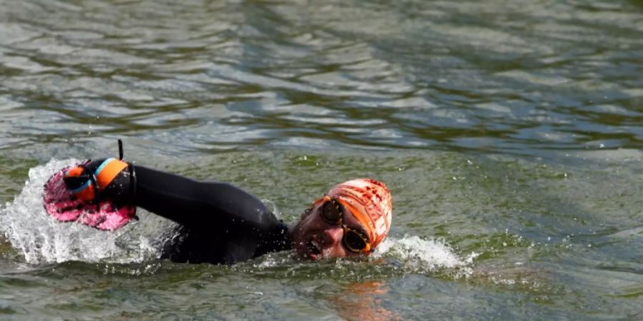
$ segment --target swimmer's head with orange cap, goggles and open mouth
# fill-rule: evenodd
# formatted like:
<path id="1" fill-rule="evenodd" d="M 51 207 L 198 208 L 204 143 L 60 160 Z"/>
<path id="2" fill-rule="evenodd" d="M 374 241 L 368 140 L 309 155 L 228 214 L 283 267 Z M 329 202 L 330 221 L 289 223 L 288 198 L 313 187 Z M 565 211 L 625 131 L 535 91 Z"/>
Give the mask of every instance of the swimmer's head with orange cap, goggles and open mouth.
<path id="1" fill-rule="evenodd" d="M 340 183 L 291 228 L 293 247 L 313 260 L 368 255 L 389 233 L 392 210 L 384 183 L 369 178 Z"/>

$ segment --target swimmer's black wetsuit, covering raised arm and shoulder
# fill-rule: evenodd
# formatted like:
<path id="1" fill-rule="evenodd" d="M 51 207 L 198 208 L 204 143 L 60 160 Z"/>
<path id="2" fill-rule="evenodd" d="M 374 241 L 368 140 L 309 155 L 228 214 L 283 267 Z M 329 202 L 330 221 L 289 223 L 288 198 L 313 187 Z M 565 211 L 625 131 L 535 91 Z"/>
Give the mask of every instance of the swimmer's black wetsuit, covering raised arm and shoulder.
<path id="1" fill-rule="evenodd" d="M 134 168 L 136 205 L 180 225 L 163 258 L 232 264 L 290 247 L 286 225 L 244 190 L 139 165 Z"/>

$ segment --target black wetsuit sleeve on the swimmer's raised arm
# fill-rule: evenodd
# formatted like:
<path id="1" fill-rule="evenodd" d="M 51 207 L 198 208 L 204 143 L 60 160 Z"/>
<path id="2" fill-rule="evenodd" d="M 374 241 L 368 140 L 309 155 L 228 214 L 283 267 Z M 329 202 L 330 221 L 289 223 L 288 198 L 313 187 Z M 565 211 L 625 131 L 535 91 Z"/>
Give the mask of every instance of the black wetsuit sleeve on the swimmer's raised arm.
<path id="1" fill-rule="evenodd" d="M 270 233 L 279 225 L 253 195 L 229 183 L 198 181 L 136 165 L 136 205 L 194 231 Z"/>

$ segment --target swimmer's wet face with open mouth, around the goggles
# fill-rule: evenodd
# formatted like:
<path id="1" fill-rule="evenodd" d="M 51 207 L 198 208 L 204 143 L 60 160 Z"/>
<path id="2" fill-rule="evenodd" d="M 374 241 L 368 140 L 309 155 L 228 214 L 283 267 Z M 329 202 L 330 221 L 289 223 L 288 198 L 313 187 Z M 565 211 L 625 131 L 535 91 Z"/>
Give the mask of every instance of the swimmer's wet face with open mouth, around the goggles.
<path id="1" fill-rule="evenodd" d="M 293 248 L 301 258 L 320 260 L 321 258 L 344 258 L 363 255 L 356 253 L 344 243 L 344 228 L 339 224 L 328 223 L 321 215 L 324 202 L 316 202 L 301 215 L 301 220 L 291 230 Z M 352 230 L 365 231 L 362 223 L 350 210 L 342 208 L 343 224 Z M 368 235 L 364 233 L 364 235 Z"/>

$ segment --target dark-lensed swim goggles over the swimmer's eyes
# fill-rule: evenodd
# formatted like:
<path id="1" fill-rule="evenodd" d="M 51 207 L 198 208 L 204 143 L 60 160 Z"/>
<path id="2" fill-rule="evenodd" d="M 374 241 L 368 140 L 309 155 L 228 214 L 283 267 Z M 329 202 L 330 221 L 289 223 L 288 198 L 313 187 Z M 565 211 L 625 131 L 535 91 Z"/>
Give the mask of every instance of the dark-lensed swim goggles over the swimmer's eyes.
<path id="1" fill-rule="evenodd" d="M 322 201 L 324 203 L 321 204 L 321 218 L 326 223 L 339 225 L 344 229 L 344 237 L 342 238 L 344 248 L 353 253 L 369 252 L 371 245 L 367 235 L 361 230 L 349 228 L 344 224 L 344 205 L 342 205 L 341 201 L 328 195 L 324 196 Z"/>

